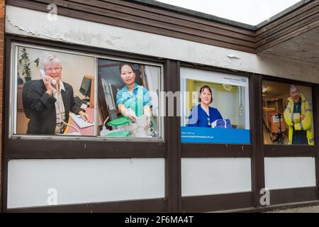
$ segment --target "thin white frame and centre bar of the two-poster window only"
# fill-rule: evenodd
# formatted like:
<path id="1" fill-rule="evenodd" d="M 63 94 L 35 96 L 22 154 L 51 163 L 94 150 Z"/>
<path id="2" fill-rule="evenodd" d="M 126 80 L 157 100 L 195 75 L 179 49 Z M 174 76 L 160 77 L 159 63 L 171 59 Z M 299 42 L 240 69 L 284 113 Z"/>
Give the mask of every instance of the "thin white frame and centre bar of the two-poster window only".
<path id="1" fill-rule="evenodd" d="M 43 140 L 68 140 L 69 138 L 72 138 L 74 140 L 82 140 L 85 138 L 86 140 L 108 140 L 108 141 L 125 141 L 125 142 L 131 142 L 131 141 L 145 141 L 145 142 L 164 142 L 164 123 L 162 121 L 162 118 L 159 117 L 159 138 L 108 138 L 108 137 L 101 137 L 98 136 L 98 126 L 95 123 L 94 124 L 94 135 L 93 136 L 86 136 L 86 135 L 22 135 L 16 133 L 17 128 L 17 69 L 18 69 L 18 48 L 33 48 L 37 50 L 43 50 L 43 51 L 52 51 L 52 52 L 61 52 L 63 54 L 70 54 L 70 55 L 81 55 L 84 57 L 94 57 L 94 118 L 97 119 L 99 114 L 99 106 L 98 106 L 98 61 L 99 59 L 103 60 L 116 60 L 119 62 L 130 62 L 133 64 L 140 64 L 140 65 L 150 65 L 159 67 L 160 74 L 159 74 L 159 89 L 160 91 L 163 91 L 164 89 L 164 83 L 163 83 L 163 77 L 164 77 L 164 65 L 153 63 L 153 62 L 146 62 L 141 60 L 132 60 L 128 58 L 123 57 L 109 57 L 107 55 L 84 55 L 82 52 L 77 51 L 70 51 L 70 50 L 58 50 L 56 48 L 45 48 L 40 45 L 28 45 L 28 44 L 21 44 L 17 42 L 11 43 L 11 78 L 10 78 L 10 115 L 9 115 L 9 122 L 10 122 L 10 128 L 9 128 L 9 138 L 11 139 L 32 139 L 32 138 L 39 138 Z M 161 99 L 161 96 L 159 96 L 159 109 L 164 109 L 164 100 Z"/>

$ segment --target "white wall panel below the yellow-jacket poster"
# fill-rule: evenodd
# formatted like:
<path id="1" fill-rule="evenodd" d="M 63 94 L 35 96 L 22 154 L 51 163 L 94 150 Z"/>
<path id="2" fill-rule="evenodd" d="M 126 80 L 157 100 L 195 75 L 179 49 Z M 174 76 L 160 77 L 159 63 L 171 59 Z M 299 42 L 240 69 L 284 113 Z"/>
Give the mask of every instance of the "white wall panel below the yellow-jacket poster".
<path id="1" fill-rule="evenodd" d="M 265 186 L 289 189 L 315 186 L 314 157 L 265 157 Z"/>

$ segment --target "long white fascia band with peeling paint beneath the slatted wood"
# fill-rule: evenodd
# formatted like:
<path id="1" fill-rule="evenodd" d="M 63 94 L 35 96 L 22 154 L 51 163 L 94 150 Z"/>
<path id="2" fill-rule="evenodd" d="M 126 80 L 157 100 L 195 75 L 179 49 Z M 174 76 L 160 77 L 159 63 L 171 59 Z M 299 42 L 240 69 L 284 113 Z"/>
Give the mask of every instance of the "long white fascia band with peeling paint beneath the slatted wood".
<path id="1" fill-rule="evenodd" d="M 254 55 L 65 16 L 57 16 L 57 21 L 48 21 L 45 12 L 16 6 L 6 6 L 5 28 L 6 33 L 319 83 L 319 77 L 316 76 L 319 66 L 315 64 L 284 57 Z"/>

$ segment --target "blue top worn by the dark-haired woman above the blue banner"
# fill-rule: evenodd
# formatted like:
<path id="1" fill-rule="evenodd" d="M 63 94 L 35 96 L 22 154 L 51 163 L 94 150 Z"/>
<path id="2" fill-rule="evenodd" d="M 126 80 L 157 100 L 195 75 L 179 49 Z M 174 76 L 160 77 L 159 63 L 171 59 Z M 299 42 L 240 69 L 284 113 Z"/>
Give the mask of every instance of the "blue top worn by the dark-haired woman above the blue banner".
<path id="1" fill-rule="evenodd" d="M 201 104 L 194 106 L 189 114 L 189 127 L 206 127 L 211 128 L 211 123 L 218 119 L 223 119 L 218 109 L 209 106 L 209 116 L 201 108 Z"/>

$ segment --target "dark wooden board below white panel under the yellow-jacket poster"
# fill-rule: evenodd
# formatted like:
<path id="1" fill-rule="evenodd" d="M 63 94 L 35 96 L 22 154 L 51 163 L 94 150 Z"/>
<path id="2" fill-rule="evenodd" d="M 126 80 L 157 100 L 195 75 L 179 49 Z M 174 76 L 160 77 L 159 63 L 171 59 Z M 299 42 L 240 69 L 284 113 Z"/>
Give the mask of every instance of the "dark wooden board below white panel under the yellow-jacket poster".
<path id="1" fill-rule="evenodd" d="M 318 200 L 318 187 L 270 190 L 270 205 Z"/>

